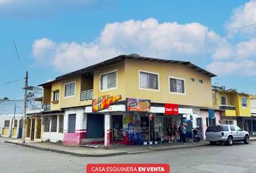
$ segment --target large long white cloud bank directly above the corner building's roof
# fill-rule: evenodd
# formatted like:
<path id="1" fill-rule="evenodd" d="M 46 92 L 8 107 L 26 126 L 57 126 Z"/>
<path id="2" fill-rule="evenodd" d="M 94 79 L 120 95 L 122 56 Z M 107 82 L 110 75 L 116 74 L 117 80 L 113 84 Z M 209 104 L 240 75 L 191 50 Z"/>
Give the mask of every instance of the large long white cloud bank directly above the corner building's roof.
<path id="1" fill-rule="evenodd" d="M 107 24 L 91 43 L 55 43 L 48 38 L 35 40 L 33 56 L 46 60 L 58 71 L 72 71 L 120 54 L 139 53 L 157 58 L 200 61 L 198 57 L 213 53 L 221 38 L 204 42 L 216 35 L 199 23 L 179 25 L 159 23 L 156 19 L 128 20 Z M 53 48 L 55 51 L 44 49 Z M 47 52 L 47 53 L 46 53 Z M 195 58 L 197 57 L 197 58 Z"/>

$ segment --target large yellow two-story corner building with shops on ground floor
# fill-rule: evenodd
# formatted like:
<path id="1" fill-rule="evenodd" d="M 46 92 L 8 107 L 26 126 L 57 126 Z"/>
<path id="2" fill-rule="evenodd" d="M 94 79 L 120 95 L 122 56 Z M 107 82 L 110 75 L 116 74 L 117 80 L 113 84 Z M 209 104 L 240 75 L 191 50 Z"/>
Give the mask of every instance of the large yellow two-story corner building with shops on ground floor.
<path id="1" fill-rule="evenodd" d="M 178 127 L 181 122 L 187 122 L 188 132 L 192 126 L 202 128 L 200 110 L 213 107 L 213 76 L 190 62 L 137 55 L 117 56 L 59 76 L 40 85 L 44 88 L 43 141 L 77 146 L 102 143 L 104 112 L 110 115 L 111 141 L 124 141 L 129 130 L 142 141 L 158 141 L 169 125 Z M 121 99 L 107 110 L 92 112 L 92 99 L 106 94 Z M 128 100 L 135 100 L 132 105 L 150 102 L 153 116 L 140 109 L 129 111 Z M 178 106 L 179 112 L 166 115 L 167 103 Z"/>

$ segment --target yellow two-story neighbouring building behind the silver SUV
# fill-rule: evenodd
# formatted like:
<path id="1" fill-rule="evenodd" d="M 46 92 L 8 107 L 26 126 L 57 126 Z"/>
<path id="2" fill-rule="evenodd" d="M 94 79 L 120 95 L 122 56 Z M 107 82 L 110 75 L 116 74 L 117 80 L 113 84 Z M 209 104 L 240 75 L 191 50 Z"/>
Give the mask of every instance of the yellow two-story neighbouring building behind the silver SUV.
<path id="1" fill-rule="evenodd" d="M 213 86 L 213 107 L 221 110 L 221 124 L 239 125 L 251 133 L 249 94 Z"/>

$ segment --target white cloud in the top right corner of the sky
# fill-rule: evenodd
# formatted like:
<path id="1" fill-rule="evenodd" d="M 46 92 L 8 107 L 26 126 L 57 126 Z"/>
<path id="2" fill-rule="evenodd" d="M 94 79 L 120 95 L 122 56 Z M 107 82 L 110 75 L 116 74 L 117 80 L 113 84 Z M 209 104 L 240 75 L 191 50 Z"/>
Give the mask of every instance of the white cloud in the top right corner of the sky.
<path id="1" fill-rule="evenodd" d="M 256 22 L 256 0 L 251 0 L 242 6 L 234 9 L 229 19 L 226 23 L 227 30 L 234 30 L 239 27 L 246 25 L 251 25 Z M 246 29 L 240 30 L 242 35 L 251 36 L 256 35 L 255 26 L 248 27 Z"/>

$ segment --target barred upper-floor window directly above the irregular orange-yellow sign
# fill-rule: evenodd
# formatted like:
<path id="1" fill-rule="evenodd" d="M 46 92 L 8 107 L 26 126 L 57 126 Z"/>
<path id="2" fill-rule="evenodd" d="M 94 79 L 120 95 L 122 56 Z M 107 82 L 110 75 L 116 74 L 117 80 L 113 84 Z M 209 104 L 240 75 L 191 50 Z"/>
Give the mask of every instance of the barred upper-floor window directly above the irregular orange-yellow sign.
<path id="1" fill-rule="evenodd" d="M 108 74 L 101 74 L 101 90 L 115 89 L 116 88 L 116 71 L 109 72 Z"/>

